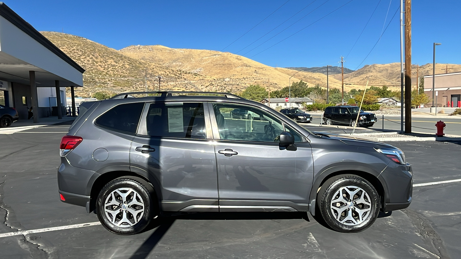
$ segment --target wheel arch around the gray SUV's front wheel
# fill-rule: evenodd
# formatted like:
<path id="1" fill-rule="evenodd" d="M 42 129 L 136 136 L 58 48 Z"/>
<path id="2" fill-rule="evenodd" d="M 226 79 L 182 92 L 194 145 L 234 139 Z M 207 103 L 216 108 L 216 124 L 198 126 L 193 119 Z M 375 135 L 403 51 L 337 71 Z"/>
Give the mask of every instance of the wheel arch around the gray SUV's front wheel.
<path id="1" fill-rule="evenodd" d="M 328 179 L 330 179 L 331 177 L 335 177 L 335 176 L 343 175 L 343 174 L 356 175 L 356 176 L 362 177 L 366 181 L 370 182 L 373 185 L 373 187 L 378 191 L 379 200 L 380 200 L 380 210 L 383 210 L 383 208 L 385 207 L 385 197 L 386 197 L 385 196 L 386 193 L 385 193 L 385 190 L 384 190 L 384 184 L 378 179 L 377 175 L 375 175 L 374 173 L 372 173 L 370 171 L 363 170 L 363 168 L 359 168 L 359 169 L 339 169 L 339 170 L 335 170 L 335 171 L 326 170 L 326 171 L 322 172 L 319 175 L 319 177 L 317 177 L 317 179 L 313 183 L 313 186 L 312 186 L 312 189 L 311 189 L 311 194 L 310 194 L 310 197 L 309 197 L 309 204 L 312 204 L 313 206 L 316 206 L 317 193 L 318 193 L 319 189 L 322 187 L 322 185 Z M 316 200 L 315 204 L 312 203 L 313 200 Z M 311 210 L 311 212 L 313 212 L 313 210 Z"/>

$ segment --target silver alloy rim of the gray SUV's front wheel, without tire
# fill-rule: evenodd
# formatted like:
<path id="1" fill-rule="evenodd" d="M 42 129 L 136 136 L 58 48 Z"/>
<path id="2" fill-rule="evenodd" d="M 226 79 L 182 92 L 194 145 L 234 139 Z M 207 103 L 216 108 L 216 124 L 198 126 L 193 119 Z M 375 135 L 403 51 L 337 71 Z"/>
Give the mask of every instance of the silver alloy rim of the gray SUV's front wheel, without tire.
<path id="1" fill-rule="evenodd" d="M 364 189 L 349 185 L 336 191 L 330 209 L 339 223 L 355 226 L 370 216 L 371 206 L 370 196 Z"/>

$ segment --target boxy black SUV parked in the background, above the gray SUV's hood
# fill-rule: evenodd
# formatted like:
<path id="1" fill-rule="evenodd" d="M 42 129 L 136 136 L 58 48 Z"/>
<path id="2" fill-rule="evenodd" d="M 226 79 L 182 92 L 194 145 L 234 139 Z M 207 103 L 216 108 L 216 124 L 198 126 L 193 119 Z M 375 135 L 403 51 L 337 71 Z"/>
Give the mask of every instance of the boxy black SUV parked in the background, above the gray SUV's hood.
<path id="1" fill-rule="evenodd" d="M 327 125 L 346 124 L 354 127 L 357 120 L 357 106 L 330 106 L 325 108 L 323 121 Z M 370 127 L 376 122 L 376 115 L 370 112 L 360 110 L 357 126 Z"/>

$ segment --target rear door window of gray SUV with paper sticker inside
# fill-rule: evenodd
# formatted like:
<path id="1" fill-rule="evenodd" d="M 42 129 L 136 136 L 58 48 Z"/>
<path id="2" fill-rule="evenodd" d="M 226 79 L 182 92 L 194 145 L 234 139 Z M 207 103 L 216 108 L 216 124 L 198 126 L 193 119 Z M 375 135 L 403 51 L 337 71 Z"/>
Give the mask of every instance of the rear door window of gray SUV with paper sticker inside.
<path id="1" fill-rule="evenodd" d="M 146 123 L 150 136 L 207 138 L 203 103 L 153 103 Z"/>

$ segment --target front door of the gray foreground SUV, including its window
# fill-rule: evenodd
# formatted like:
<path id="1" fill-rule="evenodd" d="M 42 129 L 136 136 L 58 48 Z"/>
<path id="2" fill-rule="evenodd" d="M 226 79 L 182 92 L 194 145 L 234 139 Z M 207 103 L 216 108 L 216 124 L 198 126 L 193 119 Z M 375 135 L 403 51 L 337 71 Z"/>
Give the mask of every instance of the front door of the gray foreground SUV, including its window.
<path id="1" fill-rule="evenodd" d="M 231 118 L 233 109 L 248 111 Z M 280 147 L 283 122 L 258 107 L 215 103 L 210 107 L 218 164 L 220 211 L 299 210 L 313 182 L 312 149 L 301 134 L 293 147 Z"/>

